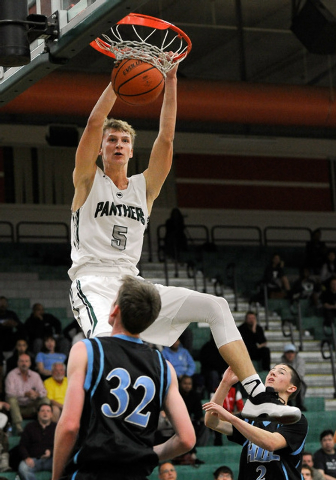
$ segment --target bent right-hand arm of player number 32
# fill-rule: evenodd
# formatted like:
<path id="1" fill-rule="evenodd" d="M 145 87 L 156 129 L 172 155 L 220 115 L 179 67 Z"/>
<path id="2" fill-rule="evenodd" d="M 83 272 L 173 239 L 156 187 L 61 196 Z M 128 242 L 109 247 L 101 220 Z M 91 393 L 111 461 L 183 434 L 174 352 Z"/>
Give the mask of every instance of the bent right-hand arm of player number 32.
<path id="1" fill-rule="evenodd" d="M 196 442 L 195 430 L 187 407 L 180 395 L 174 367 L 169 362 L 168 365 L 172 380 L 164 402 L 164 411 L 174 428 L 175 435 L 165 443 L 154 447 L 160 461 L 170 460 L 189 452 Z"/>

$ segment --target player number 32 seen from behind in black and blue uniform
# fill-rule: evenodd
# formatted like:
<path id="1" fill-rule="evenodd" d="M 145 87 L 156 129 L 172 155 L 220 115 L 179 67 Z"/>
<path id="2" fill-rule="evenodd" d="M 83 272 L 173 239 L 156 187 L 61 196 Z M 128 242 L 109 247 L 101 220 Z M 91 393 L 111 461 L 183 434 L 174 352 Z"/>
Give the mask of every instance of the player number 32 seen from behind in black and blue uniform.
<path id="1" fill-rule="evenodd" d="M 154 285 L 125 276 L 110 311 L 111 336 L 72 347 L 55 434 L 53 480 L 64 472 L 76 480 L 144 480 L 159 461 L 194 446 L 195 432 L 173 367 L 139 337 L 160 307 Z M 175 434 L 153 447 L 162 409 Z"/>

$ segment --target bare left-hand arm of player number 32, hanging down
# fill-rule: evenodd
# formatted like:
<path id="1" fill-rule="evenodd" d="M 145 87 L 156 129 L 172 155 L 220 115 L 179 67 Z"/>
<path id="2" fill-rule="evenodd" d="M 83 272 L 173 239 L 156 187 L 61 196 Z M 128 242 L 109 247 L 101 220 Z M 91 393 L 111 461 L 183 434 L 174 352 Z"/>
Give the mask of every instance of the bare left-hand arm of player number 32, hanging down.
<path id="1" fill-rule="evenodd" d="M 69 355 L 68 387 L 55 432 L 52 480 L 61 478 L 76 443 L 84 405 L 86 368 L 86 347 L 83 342 L 78 342 L 72 347 Z"/>

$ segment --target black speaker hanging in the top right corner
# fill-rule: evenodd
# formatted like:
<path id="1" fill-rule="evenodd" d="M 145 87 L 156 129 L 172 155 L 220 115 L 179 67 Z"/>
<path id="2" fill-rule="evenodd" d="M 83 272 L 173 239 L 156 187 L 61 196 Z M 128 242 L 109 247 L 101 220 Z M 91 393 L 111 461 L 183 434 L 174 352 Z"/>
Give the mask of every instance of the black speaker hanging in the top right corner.
<path id="1" fill-rule="evenodd" d="M 310 53 L 336 52 L 336 19 L 320 0 L 307 0 L 290 29 Z"/>

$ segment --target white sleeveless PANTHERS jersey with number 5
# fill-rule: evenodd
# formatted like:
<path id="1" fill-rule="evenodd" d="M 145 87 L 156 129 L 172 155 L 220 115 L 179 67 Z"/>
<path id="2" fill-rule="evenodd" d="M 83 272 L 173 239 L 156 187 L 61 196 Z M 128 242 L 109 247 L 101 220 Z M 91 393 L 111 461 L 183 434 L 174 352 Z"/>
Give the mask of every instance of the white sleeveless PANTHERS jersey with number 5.
<path id="1" fill-rule="evenodd" d="M 119 190 L 97 167 L 84 205 L 71 218 L 71 280 L 82 275 L 137 275 L 148 222 L 146 180 L 128 178 Z"/>

